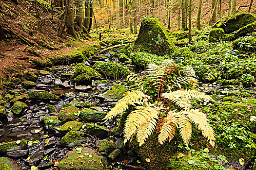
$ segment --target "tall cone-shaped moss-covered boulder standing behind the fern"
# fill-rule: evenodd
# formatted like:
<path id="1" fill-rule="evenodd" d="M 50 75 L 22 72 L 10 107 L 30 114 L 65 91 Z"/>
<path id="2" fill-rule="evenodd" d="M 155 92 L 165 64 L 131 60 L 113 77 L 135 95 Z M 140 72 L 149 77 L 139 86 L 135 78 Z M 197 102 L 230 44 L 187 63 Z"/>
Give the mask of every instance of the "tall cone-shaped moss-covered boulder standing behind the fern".
<path id="1" fill-rule="evenodd" d="M 129 50 L 164 55 L 174 52 L 175 46 L 158 19 L 144 18 L 141 21 L 138 38 Z"/>

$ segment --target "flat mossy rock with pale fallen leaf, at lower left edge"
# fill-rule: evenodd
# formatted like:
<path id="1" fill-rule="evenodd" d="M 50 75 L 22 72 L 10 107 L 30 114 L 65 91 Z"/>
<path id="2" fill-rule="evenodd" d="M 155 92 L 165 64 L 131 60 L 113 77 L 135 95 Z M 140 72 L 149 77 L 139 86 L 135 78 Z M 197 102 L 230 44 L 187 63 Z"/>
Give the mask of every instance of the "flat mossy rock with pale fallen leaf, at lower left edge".
<path id="1" fill-rule="evenodd" d="M 9 151 L 16 151 L 19 149 L 23 149 L 27 146 L 27 140 L 19 140 L 13 142 L 3 142 L 0 143 L 0 153 L 6 153 Z"/>

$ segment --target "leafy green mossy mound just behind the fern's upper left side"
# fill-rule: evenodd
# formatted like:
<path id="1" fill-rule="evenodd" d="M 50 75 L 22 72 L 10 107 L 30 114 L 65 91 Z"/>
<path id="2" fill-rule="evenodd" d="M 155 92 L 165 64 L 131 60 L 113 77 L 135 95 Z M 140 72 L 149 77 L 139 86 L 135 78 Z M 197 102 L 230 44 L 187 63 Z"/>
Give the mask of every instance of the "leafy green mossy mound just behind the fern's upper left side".
<path id="1" fill-rule="evenodd" d="M 93 66 L 101 75 L 105 75 L 110 79 L 126 78 L 130 74 L 130 70 L 117 62 L 100 62 Z"/>

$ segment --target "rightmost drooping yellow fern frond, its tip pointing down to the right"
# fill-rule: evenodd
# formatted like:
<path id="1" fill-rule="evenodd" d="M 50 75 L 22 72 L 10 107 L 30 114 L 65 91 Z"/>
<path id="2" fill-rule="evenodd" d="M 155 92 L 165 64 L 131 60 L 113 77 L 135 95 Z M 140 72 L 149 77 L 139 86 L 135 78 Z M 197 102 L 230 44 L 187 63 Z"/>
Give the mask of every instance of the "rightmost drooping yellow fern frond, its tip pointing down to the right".
<path id="1" fill-rule="evenodd" d="M 186 111 L 188 119 L 197 124 L 198 130 L 202 132 L 204 137 L 207 137 L 209 143 L 215 146 L 215 133 L 213 128 L 208 123 L 206 115 L 198 109 L 191 109 Z"/>

